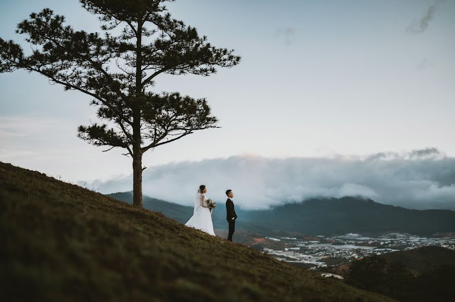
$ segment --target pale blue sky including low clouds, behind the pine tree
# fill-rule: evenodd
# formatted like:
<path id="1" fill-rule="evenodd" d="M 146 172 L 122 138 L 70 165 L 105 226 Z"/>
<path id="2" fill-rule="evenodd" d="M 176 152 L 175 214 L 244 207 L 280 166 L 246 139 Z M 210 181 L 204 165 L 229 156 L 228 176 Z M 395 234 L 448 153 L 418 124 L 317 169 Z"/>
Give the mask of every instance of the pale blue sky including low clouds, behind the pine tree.
<path id="1" fill-rule="evenodd" d="M 16 25 L 45 7 L 75 29 L 100 31 L 96 16 L 77 1 L 3 0 L 0 6 L 0 37 L 26 51 Z M 221 128 L 147 152 L 145 192 L 191 205 L 187 196 L 199 182 L 218 179 L 211 184 L 216 194 L 235 185 L 250 208 L 318 192 L 454 208 L 448 192 L 455 184 L 455 1 L 176 0 L 167 7 L 213 45 L 235 49 L 242 61 L 210 77 L 156 78 L 153 91 L 206 97 Z M 97 121 L 89 102 L 37 74 L 0 74 L 0 160 L 102 192 L 130 189 L 131 160 L 123 150 L 103 153 L 76 137 L 79 125 Z M 410 156 L 419 150 L 433 156 Z M 263 169 L 254 168 L 257 162 Z M 348 163 L 345 170 L 340 163 Z M 376 170 L 391 164 L 395 168 Z M 242 175 L 231 177 L 230 165 Z M 160 183 L 172 196 L 152 188 L 163 169 L 177 175 Z M 395 179 L 384 169 L 414 176 Z M 337 181 L 325 173 L 337 174 Z M 197 181 L 188 174 L 199 175 Z M 119 180 L 122 185 L 111 186 Z M 402 185 L 392 189 L 391 181 Z M 419 181 L 428 183 L 408 186 Z"/>

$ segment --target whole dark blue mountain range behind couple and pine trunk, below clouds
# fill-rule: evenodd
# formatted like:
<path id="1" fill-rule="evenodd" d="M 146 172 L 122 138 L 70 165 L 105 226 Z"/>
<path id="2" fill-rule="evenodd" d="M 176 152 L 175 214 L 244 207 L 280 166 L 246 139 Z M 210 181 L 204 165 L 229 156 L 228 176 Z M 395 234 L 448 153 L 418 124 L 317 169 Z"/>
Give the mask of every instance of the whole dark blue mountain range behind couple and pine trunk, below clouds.
<path id="1" fill-rule="evenodd" d="M 132 192 L 108 196 L 132 203 Z M 144 207 L 187 222 L 193 208 L 144 196 Z M 301 203 L 286 204 L 269 210 L 236 209 L 239 216 L 237 229 L 268 233 L 270 231 L 298 232 L 313 235 L 337 235 L 350 232 L 383 234 L 404 232 L 431 235 L 455 231 L 455 211 L 410 210 L 383 205 L 360 197 L 311 198 Z M 224 203 L 212 214 L 213 226 L 226 229 Z"/>

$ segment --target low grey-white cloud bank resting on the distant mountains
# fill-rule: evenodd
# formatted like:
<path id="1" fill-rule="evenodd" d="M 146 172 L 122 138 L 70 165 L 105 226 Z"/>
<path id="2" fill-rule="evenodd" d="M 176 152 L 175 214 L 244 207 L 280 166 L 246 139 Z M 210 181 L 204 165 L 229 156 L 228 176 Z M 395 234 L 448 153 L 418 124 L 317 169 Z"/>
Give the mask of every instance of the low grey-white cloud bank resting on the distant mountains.
<path id="1" fill-rule="evenodd" d="M 435 148 L 370 157 L 267 159 L 235 156 L 149 167 L 143 192 L 181 205 L 193 205 L 200 184 L 224 202 L 232 189 L 244 209 L 264 209 L 308 197 L 361 195 L 411 209 L 455 210 L 455 158 Z M 102 193 L 129 191 L 131 176 L 89 184 Z"/>

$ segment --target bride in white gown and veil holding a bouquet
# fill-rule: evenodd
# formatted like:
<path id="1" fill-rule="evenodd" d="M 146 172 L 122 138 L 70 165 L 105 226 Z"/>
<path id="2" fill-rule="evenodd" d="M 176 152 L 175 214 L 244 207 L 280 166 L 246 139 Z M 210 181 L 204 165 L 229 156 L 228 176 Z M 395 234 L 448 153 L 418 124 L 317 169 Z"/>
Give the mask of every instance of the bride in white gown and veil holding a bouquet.
<path id="1" fill-rule="evenodd" d="M 193 216 L 185 225 L 215 236 L 215 233 L 213 232 L 212 212 L 205 203 L 205 200 L 207 199 L 205 196 L 206 192 L 207 188 L 205 185 L 199 186 L 194 203 Z"/>

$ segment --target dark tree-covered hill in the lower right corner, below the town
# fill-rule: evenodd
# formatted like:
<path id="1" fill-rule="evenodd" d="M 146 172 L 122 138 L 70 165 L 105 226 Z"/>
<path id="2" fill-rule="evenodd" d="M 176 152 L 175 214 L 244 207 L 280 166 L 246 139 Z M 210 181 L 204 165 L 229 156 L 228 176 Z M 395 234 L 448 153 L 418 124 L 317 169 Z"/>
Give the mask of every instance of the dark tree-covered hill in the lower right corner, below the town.
<path id="1" fill-rule="evenodd" d="M 437 246 L 370 256 L 349 264 L 348 284 L 401 301 L 453 301 L 455 251 Z"/>

